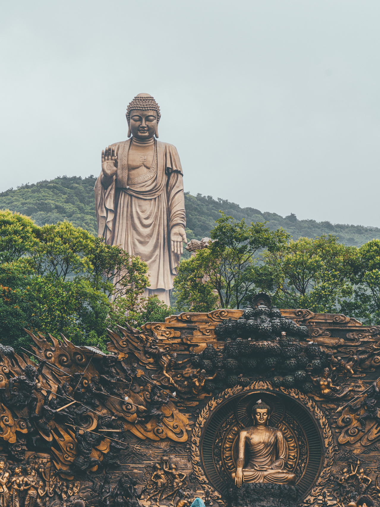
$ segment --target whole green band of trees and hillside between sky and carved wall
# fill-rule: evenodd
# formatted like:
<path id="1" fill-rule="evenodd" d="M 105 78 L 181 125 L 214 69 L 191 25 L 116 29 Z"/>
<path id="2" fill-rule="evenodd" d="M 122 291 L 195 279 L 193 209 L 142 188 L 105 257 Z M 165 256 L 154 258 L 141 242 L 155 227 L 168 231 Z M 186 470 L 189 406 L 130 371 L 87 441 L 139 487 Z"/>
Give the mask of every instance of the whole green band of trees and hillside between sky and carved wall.
<path id="1" fill-rule="evenodd" d="M 0 193 L 0 208 L 17 211 L 0 212 L 0 334 L 9 343 L 26 339 L 20 330 L 29 324 L 67 333 L 78 343 L 102 344 L 106 325 L 123 325 L 126 316 L 139 326 L 170 314 L 157 298 L 141 299 L 146 265 L 96 238 L 95 180 L 58 176 Z M 184 252 L 175 282 L 177 310 L 240 307 L 264 289 L 278 306 L 380 323 L 379 228 L 298 220 L 293 213 L 283 218 L 202 194 L 185 193 L 185 208 L 188 239 L 212 236 L 215 242 L 196 257 Z M 225 222 L 219 222 L 219 210 Z M 252 227 L 262 238 L 253 253 L 244 239 Z M 271 250 L 268 235 L 281 228 L 292 241 Z M 114 277 L 120 280 L 116 288 Z"/>

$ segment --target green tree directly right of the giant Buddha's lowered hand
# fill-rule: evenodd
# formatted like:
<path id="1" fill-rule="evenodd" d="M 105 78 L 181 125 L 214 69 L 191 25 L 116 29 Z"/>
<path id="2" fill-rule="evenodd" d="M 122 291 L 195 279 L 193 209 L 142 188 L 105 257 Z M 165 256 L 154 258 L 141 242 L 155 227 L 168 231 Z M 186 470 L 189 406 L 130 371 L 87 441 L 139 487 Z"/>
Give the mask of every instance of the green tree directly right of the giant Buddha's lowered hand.
<path id="1" fill-rule="evenodd" d="M 217 300 L 222 308 L 240 308 L 256 289 L 256 252 L 275 252 L 288 237 L 283 229 L 271 231 L 262 223 L 247 226 L 244 219 L 237 222 L 221 212 L 209 247 L 179 266 L 174 282 L 177 308 L 210 311 Z"/>

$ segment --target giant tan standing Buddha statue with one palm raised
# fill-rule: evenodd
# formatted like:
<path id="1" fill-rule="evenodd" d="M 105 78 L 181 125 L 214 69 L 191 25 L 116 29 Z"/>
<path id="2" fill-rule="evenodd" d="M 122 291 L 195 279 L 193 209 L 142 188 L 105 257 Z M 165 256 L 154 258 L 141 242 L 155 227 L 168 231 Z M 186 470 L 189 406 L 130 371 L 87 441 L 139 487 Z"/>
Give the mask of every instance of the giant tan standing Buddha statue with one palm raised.
<path id="1" fill-rule="evenodd" d="M 154 97 L 136 95 L 126 116 L 132 137 L 102 152 L 95 184 L 98 235 L 145 261 L 145 296 L 157 294 L 169 305 L 187 243 L 181 163 L 172 144 L 157 140 L 161 113 Z"/>

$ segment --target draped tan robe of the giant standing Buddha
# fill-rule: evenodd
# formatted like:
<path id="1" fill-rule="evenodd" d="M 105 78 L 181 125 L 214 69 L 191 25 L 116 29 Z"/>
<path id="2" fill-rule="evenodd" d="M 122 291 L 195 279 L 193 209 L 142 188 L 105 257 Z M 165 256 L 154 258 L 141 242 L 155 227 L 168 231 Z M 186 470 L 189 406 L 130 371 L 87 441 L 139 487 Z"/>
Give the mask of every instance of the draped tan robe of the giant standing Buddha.
<path id="1" fill-rule="evenodd" d="M 171 251 L 170 231 L 185 227 L 182 168 L 176 148 L 155 140 L 154 161 L 138 177 L 128 177 L 131 139 L 112 144 L 118 170 L 105 189 L 101 174 L 95 184 L 98 235 L 109 245 L 121 245 L 139 256 L 149 268 L 150 287 L 145 296 L 157 294 L 170 305 L 169 295 L 179 256 Z"/>

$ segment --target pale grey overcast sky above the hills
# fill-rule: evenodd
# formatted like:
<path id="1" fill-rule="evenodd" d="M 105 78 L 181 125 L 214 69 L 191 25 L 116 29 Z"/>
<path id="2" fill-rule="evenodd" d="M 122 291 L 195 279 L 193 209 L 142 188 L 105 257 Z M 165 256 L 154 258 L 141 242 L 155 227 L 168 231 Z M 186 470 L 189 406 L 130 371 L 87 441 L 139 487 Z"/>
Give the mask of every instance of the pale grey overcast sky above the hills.
<path id="1" fill-rule="evenodd" d="M 380 227 L 378 0 L 3 3 L 0 191 L 100 172 L 134 95 L 185 190 Z"/>

